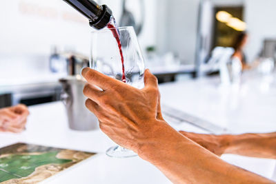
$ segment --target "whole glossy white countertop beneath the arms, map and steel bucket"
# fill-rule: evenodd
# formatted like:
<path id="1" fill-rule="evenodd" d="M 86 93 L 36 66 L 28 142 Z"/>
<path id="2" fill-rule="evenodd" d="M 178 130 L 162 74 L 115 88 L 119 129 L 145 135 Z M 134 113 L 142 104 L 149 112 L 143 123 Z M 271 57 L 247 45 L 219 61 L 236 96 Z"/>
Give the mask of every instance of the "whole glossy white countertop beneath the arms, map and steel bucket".
<path id="1" fill-rule="evenodd" d="M 162 102 L 202 119 L 227 127 L 230 132 L 276 131 L 276 85 L 271 78 L 247 77 L 241 88 L 222 88 L 215 79 L 199 79 L 160 86 Z M 88 161 L 53 176 L 46 183 L 170 183 L 150 163 L 135 157 L 111 159 L 104 154 L 115 145 L 99 130 L 76 132 L 68 129 L 63 104 L 30 107 L 27 130 L 0 134 L 0 147 L 17 142 L 98 152 Z M 177 130 L 203 132 L 191 125 L 173 125 Z M 222 159 L 268 178 L 276 161 L 224 155 Z"/>

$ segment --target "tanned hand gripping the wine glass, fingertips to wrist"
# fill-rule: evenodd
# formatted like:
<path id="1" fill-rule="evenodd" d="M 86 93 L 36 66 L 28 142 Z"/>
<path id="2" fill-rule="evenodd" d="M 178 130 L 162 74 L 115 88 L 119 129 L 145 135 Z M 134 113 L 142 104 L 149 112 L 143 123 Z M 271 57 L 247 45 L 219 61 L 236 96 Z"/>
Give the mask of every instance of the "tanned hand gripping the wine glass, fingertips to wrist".
<path id="1" fill-rule="evenodd" d="M 86 107 L 98 117 L 101 130 L 117 144 L 138 153 L 144 142 L 156 139 L 152 132 L 170 127 L 161 116 L 157 79 L 148 70 L 142 90 L 88 68 L 82 74 L 88 81 L 83 89 L 89 98 Z M 99 77 L 102 79 L 97 80 Z"/>

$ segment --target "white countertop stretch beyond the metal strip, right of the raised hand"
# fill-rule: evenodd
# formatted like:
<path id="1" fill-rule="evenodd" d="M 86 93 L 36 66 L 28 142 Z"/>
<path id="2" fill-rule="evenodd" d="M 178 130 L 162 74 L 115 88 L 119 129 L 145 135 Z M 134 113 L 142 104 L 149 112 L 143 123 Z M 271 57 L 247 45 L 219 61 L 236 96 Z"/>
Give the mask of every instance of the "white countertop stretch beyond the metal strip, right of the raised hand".
<path id="1" fill-rule="evenodd" d="M 240 86 L 222 86 L 218 77 L 160 86 L 161 101 L 227 127 L 232 133 L 276 131 L 276 72 L 246 73 Z"/>

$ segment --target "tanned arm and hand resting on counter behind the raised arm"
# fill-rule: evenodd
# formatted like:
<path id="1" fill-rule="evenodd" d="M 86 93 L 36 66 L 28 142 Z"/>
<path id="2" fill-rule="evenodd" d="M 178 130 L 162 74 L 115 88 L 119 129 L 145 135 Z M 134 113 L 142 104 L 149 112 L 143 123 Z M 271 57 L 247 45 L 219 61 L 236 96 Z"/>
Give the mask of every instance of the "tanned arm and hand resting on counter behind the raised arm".
<path id="1" fill-rule="evenodd" d="M 268 134 L 211 135 L 180 131 L 210 152 L 276 159 L 276 132 Z"/>

